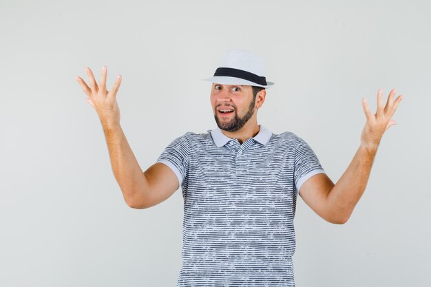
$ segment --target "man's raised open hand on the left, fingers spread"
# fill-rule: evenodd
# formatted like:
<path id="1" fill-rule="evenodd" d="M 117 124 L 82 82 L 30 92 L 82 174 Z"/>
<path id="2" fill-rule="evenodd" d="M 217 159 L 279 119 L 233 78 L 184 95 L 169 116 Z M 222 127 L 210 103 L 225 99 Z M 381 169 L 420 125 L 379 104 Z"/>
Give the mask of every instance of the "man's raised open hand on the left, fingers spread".
<path id="1" fill-rule="evenodd" d="M 90 87 L 80 76 L 76 78 L 76 81 L 78 81 L 83 91 L 88 96 L 85 100 L 87 100 L 87 102 L 96 109 L 104 128 L 118 125 L 120 123 L 120 109 L 116 101 L 116 94 L 121 83 L 120 74 L 116 77 L 112 89 L 108 91 L 106 89 L 106 66 L 102 67 L 102 76 L 98 84 L 94 79 L 94 75 L 92 70 L 90 70 L 90 67 L 86 67 L 85 72 L 87 72 Z"/>

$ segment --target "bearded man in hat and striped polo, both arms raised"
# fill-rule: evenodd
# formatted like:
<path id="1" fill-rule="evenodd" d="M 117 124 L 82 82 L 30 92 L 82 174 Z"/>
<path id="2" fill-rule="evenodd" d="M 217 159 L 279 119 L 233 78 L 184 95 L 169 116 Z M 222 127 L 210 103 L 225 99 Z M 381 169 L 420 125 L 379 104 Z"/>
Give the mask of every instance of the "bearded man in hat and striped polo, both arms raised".
<path id="1" fill-rule="evenodd" d="M 377 113 L 364 99 L 366 125 L 361 145 L 346 172 L 334 184 L 311 147 L 292 132 L 273 134 L 257 125 L 266 88 L 264 61 L 231 50 L 211 81 L 211 106 L 217 129 L 187 132 L 143 172 L 120 127 L 116 93 L 106 90 L 107 69 L 90 87 L 78 77 L 105 131 L 114 176 L 127 204 L 154 206 L 182 187 L 184 198 L 182 268 L 177 286 L 295 286 L 293 219 L 297 195 L 324 220 L 344 224 L 368 181 L 384 131 L 402 96 Z"/>

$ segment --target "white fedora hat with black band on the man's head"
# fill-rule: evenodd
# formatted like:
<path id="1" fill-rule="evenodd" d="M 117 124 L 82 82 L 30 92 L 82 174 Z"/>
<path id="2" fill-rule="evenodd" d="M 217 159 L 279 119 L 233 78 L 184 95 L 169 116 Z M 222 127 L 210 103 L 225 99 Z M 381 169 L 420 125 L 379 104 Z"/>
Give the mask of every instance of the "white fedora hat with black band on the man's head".
<path id="1" fill-rule="evenodd" d="M 211 78 L 203 81 L 224 85 L 251 85 L 268 89 L 274 85 L 266 81 L 265 64 L 261 56 L 243 50 L 229 50 Z"/>

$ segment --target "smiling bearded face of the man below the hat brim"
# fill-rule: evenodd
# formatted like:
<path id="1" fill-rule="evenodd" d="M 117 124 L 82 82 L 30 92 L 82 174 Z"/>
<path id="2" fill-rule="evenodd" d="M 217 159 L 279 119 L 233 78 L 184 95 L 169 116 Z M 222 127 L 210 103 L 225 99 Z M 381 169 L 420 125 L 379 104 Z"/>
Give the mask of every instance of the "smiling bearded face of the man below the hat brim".
<path id="1" fill-rule="evenodd" d="M 249 85 L 213 83 L 210 99 L 215 123 L 224 131 L 238 131 L 255 112 L 253 90 Z"/>

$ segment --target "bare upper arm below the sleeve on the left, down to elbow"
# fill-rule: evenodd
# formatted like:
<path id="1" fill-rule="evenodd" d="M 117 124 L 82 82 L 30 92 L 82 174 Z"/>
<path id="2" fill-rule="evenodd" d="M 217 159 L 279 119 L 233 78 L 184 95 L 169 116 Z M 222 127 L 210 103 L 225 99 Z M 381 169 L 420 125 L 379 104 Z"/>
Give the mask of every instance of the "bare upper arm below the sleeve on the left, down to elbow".
<path id="1" fill-rule="evenodd" d="M 143 173 L 145 190 L 139 191 L 131 207 L 147 209 L 167 200 L 179 187 L 176 174 L 166 164 L 156 162 Z"/>

